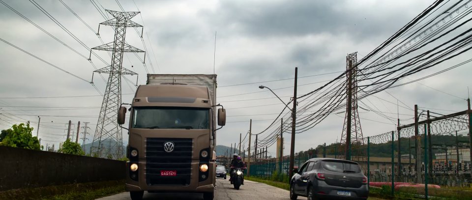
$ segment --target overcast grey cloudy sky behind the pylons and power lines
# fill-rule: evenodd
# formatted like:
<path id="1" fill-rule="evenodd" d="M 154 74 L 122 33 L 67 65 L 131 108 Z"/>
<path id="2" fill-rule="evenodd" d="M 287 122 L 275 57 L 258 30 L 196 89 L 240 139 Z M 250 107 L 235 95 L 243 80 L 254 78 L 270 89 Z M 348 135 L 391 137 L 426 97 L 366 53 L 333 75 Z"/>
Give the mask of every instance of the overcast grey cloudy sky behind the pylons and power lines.
<path id="1" fill-rule="evenodd" d="M 65 140 L 69 120 L 74 124 L 81 121 L 81 126 L 89 122 L 87 143 L 91 142 L 103 99 L 100 93 L 105 91 L 107 76 L 94 75 L 97 89 L 88 82 L 92 79 L 94 66 L 109 65 L 110 56 L 95 51 L 106 62 L 92 55 L 93 64 L 87 58 L 89 48 L 101 45 L 102 41 L 113 41 L 114 29 L 111 27 L 100 26 L 100 38 L 95 33 L 98 24 L 106 21 L 105 17 L 111 17 L 102 15 L 104 8 L 121 11 L 117 1 L 1 1 L 0 38 L 73 75 L 0 41 L 0 128 L 7 129 L 12 123 L 30 120 L 36 133 L 40 116 L 39 138 L 42 144 L 57 146 Z M 345 70 L 347 54 L 357 52 L 358 59 L 364 57 L 434 2 L 118 1 L 125 11 L 141 11 L 133 21 L 145 26 L 146 47 L 140 38 L 141 29 L 128 28 L 126 34 L 127 43 L 148 50 L 146 67 L 140 61 L 144 57 L 142 53 L 128 53 L 123 60 L 123 67 L 139 74 L 138 84 L 146 84 L 147 73 L 212 74 L 215 70 L 218 75 L 217 101 L 225 106 L 228 115 L 227 125 L 217 133 L 217 142 L 227 146 L 239 142 L 240 133 L 244 137 L 250 119 L 253 119 L 253 132 L 259 133 L 284 108 L 272 93 L 259 89 L 259 85 L 274 89 L 283 101 L 288 102 L 293 96 L 293 78 L 295 67 L 298 67 L 298 77 L 304 78 L 298 79 L 297 93 L 310 92 Z M 38 9 L 39 6 L 77 40 Z M 470 57 L 471 54 L 467 55 Z M 467 109 L 464 99 L 468 96 L 468 86 L 472 86 L 468 78 L 471 71 L 471 67 L 465 65 L 418 83 L 387 89 L 388 93 L 381 92 L 362 101 L 390 117 L 400 116 L 402 124 L 413 122 L 413 111 L 404 108 L 407 105 L 413 108 L 418 104 L 444 114 L 462 111 Z M 424 75 L 420 73 L 410 79 Z M 129 81 L 123 79 L 123 103 L 132 99 L 136 78 L 127 76 Z M 255 82 L 266 83 L 251 84 Z M 406 105 L 400 103 L 397 107 L 397 99 Z M 359 110 L 359 115 L 364 137 L 395 130 L 395 121 L 364 110 Z M 316 127 L 297 134 L 295 151 L 340 140 L 343 122 L 344 114 L 331 114 Z M 76 129 L 76 125 L 73 127 Z M 125 144 L 127 137 L 125 132 Z M 285 144 L 284 154 L 288 154 L 289 138 Z M 275 145 L 269 147 L 269 155 L 275 155 Z"/>

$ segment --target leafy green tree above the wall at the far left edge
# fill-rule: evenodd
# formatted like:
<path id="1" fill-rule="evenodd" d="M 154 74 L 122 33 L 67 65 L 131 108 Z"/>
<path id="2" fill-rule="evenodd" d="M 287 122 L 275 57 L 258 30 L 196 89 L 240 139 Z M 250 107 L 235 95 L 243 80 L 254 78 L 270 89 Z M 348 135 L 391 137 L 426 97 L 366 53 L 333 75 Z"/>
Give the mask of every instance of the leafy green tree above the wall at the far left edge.
<path id="1" fill-rule="evenodd" d="M 7 133 L 1 145 L 40 150 L 41 145 L 39 144 L 38 137 L 33 137 L 31 135 L 32 131 L 33 128 L 29 127 L 29 124 L 15 124 L 10 129 L 6 130 Z"/>

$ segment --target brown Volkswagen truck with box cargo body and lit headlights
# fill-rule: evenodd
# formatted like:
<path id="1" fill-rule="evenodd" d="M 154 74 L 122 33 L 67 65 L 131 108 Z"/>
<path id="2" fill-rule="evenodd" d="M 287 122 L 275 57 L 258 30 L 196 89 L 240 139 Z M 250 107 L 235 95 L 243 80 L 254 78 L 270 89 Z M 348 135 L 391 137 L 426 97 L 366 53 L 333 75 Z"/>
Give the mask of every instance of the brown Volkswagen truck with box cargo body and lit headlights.
<path id="1" fill-rule="evenodd" d="M 214 105 L 215 91 L 216 75 L 148 74 L 131 108 L 119 109 L 118 124 L 130 111 L 125 188 L 132 200 L 144 191 L 213 199 L 216 123 L 226 123 L 225 109 Z"/>

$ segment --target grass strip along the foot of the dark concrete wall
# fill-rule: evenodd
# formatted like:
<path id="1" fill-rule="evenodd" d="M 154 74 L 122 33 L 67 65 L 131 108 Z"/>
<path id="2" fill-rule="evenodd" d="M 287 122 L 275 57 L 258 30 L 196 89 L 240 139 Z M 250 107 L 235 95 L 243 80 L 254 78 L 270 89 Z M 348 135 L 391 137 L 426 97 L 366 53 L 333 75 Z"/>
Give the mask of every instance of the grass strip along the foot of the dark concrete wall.
<path id="1" fill-rule="evenodd" d="M 124 192 L 124 181 L 76 183 L 0 192 L 0 199 L 10 200 L 94 200 Z"/>

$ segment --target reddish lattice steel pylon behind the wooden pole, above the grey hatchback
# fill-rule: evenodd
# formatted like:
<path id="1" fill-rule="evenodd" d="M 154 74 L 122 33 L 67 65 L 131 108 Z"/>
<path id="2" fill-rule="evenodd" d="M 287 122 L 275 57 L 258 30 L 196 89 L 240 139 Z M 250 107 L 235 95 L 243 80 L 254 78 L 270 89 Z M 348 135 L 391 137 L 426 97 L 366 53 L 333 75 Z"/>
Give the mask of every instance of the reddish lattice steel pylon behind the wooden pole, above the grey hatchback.
<path id="1" fill-rule="evenodd" d="M 360 147 L 364 144 L 362 128 L 360 126 L 359 113 L 357 112 L 357 53 L 346 57 L 346 86 L 347 104 L 346 117 L 344 119 L 341 144 L 344 144 L 346 159 L 352 160 L 352 147 Z M 357 153 L 358 154 L 358 153 Z M 357 155 L 359 156 L 359 155 Z"/>

